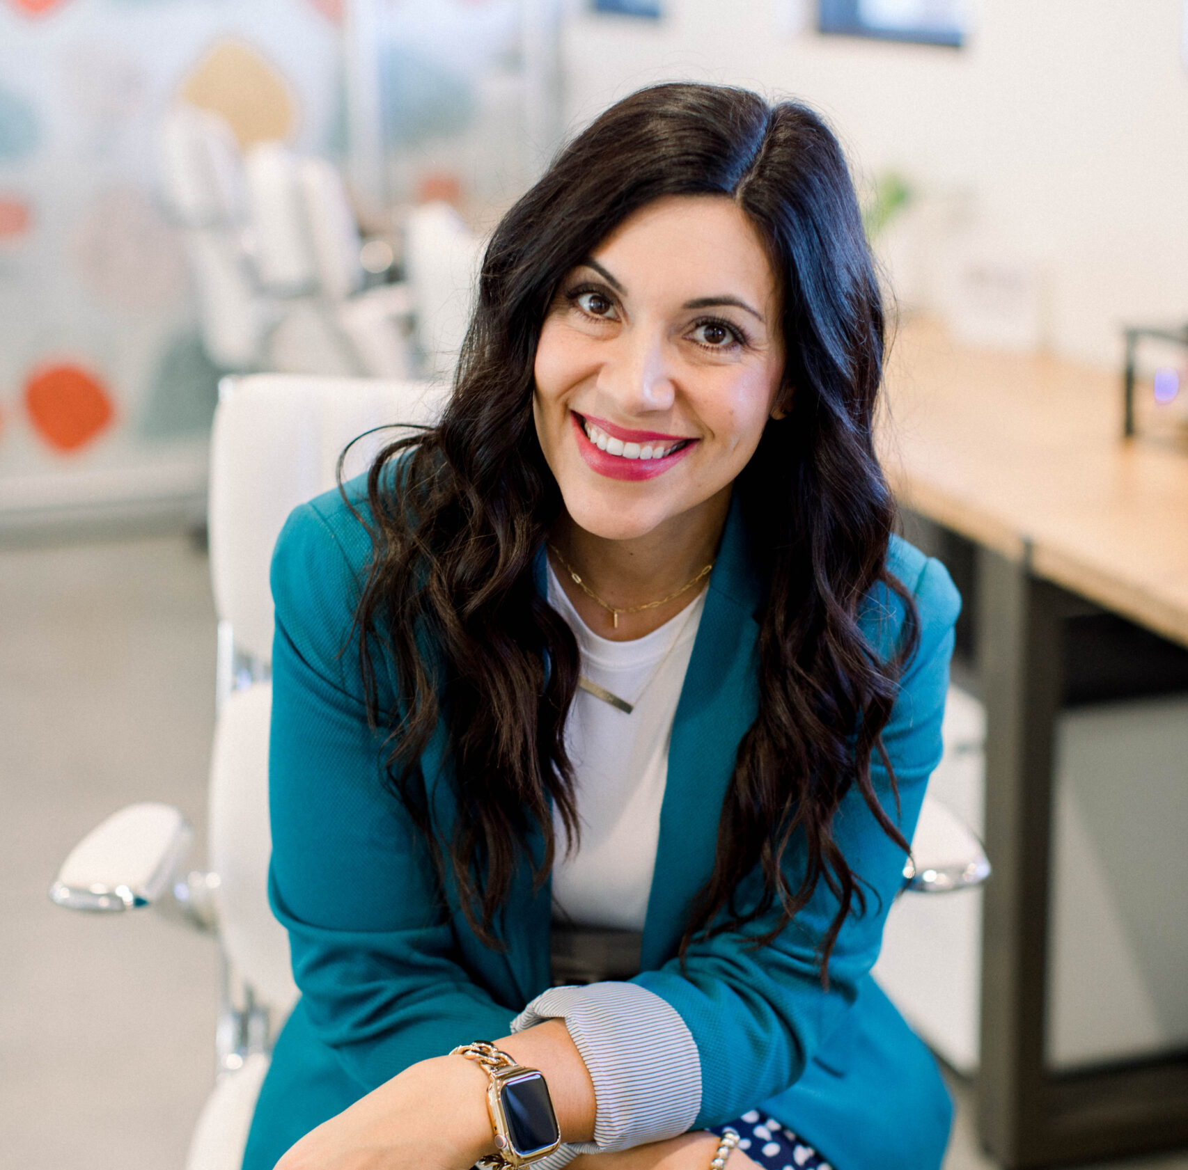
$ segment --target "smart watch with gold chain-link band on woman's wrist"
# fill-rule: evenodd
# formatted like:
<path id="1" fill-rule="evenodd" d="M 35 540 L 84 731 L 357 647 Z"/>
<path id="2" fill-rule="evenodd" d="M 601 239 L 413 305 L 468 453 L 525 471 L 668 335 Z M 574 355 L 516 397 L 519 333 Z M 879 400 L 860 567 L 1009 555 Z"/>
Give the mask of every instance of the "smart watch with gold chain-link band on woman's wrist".
<path id="1" fill-rule="evenodd" d="M 561 1145 L 561 1128 L 544 1075 L 517 1064 L 488 1041 L 461 1044 L 450 1056 L 465 1056 L 487 1074 L 487 1112 L 495 1133 L 495 1155 L 480 1158 L 481 1170 L 505 1170 L 538 1162 Z"/>

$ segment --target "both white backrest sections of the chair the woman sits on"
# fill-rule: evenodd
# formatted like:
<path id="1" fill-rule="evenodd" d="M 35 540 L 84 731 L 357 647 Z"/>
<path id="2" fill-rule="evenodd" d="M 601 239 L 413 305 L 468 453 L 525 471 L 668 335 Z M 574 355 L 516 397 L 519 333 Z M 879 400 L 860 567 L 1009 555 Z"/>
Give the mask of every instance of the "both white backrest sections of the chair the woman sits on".
<path id="1" fill-rule="evenodd" d="M 215 605 L 238 649 L 266 665 L 272 653 L 268 564 L 285 518 L 335 482 L 339 455 L 362 431 L 432 422 L 440 398 L 421 382 L 254 374 L 223 380 L 210 467 L 210 570 Z M 356 444 L 362 470 L 396 434 Z M 210 865 L 219 874 L 219 926 L 235 974 L 283 1018 L 297 997 L 289 943 L 267 900 L 268 722 L 272 688 L 225 698 L 210 765 Z"/>

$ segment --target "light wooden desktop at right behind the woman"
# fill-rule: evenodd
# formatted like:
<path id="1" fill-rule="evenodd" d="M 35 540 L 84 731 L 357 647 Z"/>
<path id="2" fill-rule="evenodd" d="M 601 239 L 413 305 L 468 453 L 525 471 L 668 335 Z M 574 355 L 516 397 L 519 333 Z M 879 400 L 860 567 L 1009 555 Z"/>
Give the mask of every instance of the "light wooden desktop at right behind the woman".
<path id="1" fill-rule="evenodd" d="M 887 388 L 906 506 L 1188 645 L 1188 457 L 1119 441 L 1118 375 L 909 327 Z"/>

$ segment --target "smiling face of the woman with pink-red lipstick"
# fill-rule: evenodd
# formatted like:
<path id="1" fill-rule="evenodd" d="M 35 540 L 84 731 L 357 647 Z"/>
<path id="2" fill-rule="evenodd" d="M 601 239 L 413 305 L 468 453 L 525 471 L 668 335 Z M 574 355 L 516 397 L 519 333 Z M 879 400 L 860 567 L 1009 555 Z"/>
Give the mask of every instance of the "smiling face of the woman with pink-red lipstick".
<path id="1" fill-rule="evenodd" d="M 779 285 L 726 196 L 669 196 L 562 280 L 536 352 L 536 429 L 565 507 L 607 539 L 721 514 L 784 368 Z"/>

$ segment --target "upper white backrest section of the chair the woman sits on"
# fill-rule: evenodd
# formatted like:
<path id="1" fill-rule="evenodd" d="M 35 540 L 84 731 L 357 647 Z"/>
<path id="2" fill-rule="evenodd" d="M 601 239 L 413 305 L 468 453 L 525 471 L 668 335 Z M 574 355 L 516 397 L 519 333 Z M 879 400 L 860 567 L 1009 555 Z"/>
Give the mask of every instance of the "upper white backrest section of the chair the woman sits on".
<path id="1" fill-rule="evenodd" d="M 398 431 L 396 423 L 429 423 L 441 387 L 361 378 L 252 374 L 220 387 L 210 451 L 210 575 L 220 620 L 236 649 L 272 659 L 272 548 L 289 513 L 335 483 L 343 448 L 356 443 L 346 478 L 362 472 Z"/>

